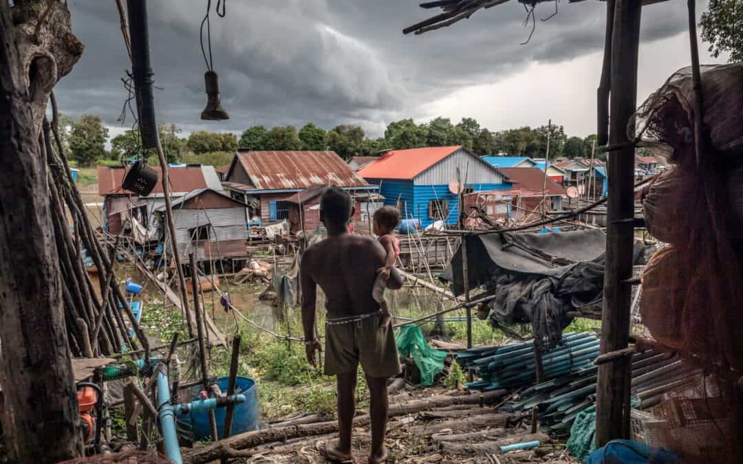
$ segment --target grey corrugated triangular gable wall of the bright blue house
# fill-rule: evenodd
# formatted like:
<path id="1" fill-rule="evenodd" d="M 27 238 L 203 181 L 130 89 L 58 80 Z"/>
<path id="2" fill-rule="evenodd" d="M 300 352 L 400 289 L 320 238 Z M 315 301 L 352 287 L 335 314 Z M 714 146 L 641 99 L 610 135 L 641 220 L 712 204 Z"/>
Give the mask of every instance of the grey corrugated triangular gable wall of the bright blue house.
<path id="1" fill-rule="evenodd" d="M 413 179 L 416 186 L 448 185 L 460 170 L 462 182 L 467 184 L 503 182 L 503 175 L 484 160 L 464 150 L 457 150 Z"/>

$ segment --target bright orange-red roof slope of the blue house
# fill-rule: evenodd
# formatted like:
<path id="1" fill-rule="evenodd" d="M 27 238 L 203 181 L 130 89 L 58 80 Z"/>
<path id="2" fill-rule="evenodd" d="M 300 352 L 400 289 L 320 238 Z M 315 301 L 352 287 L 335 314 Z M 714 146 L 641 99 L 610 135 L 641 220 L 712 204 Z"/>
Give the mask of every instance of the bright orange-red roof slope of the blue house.
<path id="1" fill-rule="evenodd" d="M 436 146 L 388 151 L 379 160 L 360 169 L 365 179 L 412 179 L 461 146 Z"/>

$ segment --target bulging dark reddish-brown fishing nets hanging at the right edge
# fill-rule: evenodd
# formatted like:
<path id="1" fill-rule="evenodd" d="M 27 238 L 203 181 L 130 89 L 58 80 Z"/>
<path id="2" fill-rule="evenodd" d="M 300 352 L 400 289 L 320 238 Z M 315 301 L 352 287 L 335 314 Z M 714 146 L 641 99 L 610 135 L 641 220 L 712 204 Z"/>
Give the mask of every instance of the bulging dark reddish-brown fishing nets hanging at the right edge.
<path id="1" fill-rule="evenodd" d="M 643 324 L 658 341 L 720 373 L 731 405 L 739 401 L 730 389 L 730 367 L 743 369 L 742 82 L 743 63 L 702 68 L 698 153 L 689 68 L 652 94 L 628 126 L 640 143 L 674 165 L 643 192 L 649 229 L 672 244 L 643 275 Z M 740 453 L 730 448 L 730 456 Z"/>

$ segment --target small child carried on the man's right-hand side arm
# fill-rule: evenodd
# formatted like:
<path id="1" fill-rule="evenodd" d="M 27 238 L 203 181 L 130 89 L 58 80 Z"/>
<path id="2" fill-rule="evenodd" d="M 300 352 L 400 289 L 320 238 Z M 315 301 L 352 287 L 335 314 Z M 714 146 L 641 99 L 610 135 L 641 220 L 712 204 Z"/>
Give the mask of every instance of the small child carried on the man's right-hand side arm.
<path id="1" fill-rule="evenodd" d="M 374 281 L 374 290 L 371 295 L 374 301 L 379 303 L 379 309 L 382 313 L 380 327 L 386 327 L 392 321 L 392 315 L 389 313 L 389 303 L 384 298 L 384 290 L 387 288 L 387 279 L 389 272 L 395 266 L 395 260 L 400 256 L 400 241 L 392 231 L 400 223 L 400 212 L 392 206 L 382 206 L 374 212 L 374 235 L 379 237 L 379 243 L 384 247 L 386 258 L 384 267 L 377 269 L 377 280 Z"/>

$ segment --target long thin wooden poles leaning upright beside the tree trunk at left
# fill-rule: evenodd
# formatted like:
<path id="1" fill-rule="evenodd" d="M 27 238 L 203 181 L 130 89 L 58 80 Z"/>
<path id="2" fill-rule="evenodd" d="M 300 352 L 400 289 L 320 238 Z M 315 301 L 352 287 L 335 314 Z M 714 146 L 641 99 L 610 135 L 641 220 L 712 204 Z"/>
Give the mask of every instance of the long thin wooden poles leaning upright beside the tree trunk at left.
<path id="1" fill-rule="evenodd" d="M 62 298 L 65 307 L 65 325 L 73 356 L 100 356 L 118 353 L 124 346 L 137 350 L 143 345 L 149 357 L 147 339 L 129 309 L 114 275 L 114 257 L 117 243 L 112 249 L 100 244 L 85 215 L 80 192 L 72 180 L 72 172 L 59 138 L 56 101 L 51 97 L 53 120 L 45 118 L 39 136 L 39 148 L 48 165 L 49 197 L 52 202 L 54 238 L 59 252 L 59 269 L 62 272 Z M 53 140 L 53 143 L 52 143 Z M 65 212 L 69 212 L 74 226 L 71 228 Z M 82 247 L 88 250 L 100 278 L 100 298 L 82 261 Z M 129 336 L 124 316 L 134 327 L 136 341 Z"/>

